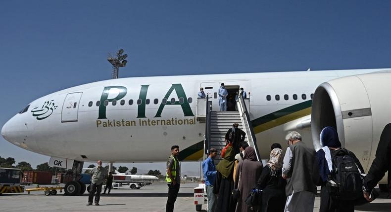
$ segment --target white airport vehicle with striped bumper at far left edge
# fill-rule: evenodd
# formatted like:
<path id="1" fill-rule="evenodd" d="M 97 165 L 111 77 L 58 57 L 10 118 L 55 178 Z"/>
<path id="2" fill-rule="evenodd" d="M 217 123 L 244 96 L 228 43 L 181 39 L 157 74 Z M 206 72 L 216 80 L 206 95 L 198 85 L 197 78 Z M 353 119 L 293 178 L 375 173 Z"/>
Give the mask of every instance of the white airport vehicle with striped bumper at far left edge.
<path id="1" fill-rule="evenodd" d="M 4 193 L 23 193 L 24 186 L 20 186 L 20 169 L 0 167 L 0 195 Z"/>

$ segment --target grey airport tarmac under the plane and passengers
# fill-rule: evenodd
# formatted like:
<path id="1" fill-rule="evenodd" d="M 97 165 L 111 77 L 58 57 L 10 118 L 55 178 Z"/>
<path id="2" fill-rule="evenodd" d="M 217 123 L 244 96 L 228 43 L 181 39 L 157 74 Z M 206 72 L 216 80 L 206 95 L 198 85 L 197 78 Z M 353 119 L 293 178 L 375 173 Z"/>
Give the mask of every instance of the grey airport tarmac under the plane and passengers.
<path id="1" fill-rule="evenodd" d="M 195 212 L 193 189 L 196 183 L 183 183 L 179 191 L 176 212 Z M 27 186 L 32 187 L 32 186 Z M 373 203 L 356 207 L 357 212 L 391 212 L 391 199 L 381 193 L 380 198 Z M 164 182 L 154 182 L 140 190 L 129 188 L 113 189 L 109 195 L 102 194 L 100 206 L 86 206 L 87 192 L 83 196 L 45 196 L 43 191 L 33 191 L 30 194 L 3 194 L 0 196 L 1 212 L 18 211 L 115 211 L 115 212 L 164 212 L 167 200 L 167 185 Z M 315 198 L 314 212 L 319 211 L 320 197 Z M 205 205 L 203 207 L 205 209 Z"/>

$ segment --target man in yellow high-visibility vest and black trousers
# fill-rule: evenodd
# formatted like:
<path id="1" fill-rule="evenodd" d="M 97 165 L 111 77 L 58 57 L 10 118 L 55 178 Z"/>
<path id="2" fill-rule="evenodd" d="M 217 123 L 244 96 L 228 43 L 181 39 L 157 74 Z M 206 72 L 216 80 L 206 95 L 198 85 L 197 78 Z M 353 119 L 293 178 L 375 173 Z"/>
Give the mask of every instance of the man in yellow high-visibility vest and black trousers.
<path id="1" fill-rule="evenodd" d="M 168 198 L 166 212 L 174 211 L 174 204 L 177 200 L 179 185 L 181 183 L 181 168 L 179 167 L 179 146 L 171 147 L 171 156 L 167 160 L 166 182 L 168 184 Z"/>

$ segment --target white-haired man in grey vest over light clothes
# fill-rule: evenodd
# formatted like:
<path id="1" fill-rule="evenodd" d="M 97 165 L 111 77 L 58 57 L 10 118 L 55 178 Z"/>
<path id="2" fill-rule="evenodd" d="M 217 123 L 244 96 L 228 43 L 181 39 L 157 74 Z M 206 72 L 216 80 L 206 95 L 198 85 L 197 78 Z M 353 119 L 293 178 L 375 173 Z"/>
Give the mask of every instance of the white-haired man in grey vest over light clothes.
<path id="1" fill-rule="evenodd" d="M 285 140 L 289 145 L 282 170 L 287 179 L 285 212 L 312 212 L 319 179 L 315 150 L 306 146 L 295 131 L 289 132 Z"/>

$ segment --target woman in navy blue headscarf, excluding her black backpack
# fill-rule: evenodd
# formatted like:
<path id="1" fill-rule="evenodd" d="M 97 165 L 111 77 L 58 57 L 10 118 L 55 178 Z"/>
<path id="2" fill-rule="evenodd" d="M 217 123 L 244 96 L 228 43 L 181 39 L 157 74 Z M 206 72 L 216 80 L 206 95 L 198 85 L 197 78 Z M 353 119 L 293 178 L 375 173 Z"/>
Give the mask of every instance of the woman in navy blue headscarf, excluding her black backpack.
<path id="1" fill-rule="evenodd" d="M 341 142 L 338 139 L 338 133 L 333 127 L 325 127 L 320 133 L 321 148 L 316 152 L 316 161 L 319 166 L 320 179 L 318 185 L 320 189 L 320 209 L 319 212 L 354 212 L 355 201 L 339 201 L 337 198 L 330 196 L 327 191 L 326 183 L 329 175 L 333 171 L 332 152 L 341 148 Z M 353 159 L 361 173 L 364 173 L 359 160 L 348 150 L 346 151 Z"/>

